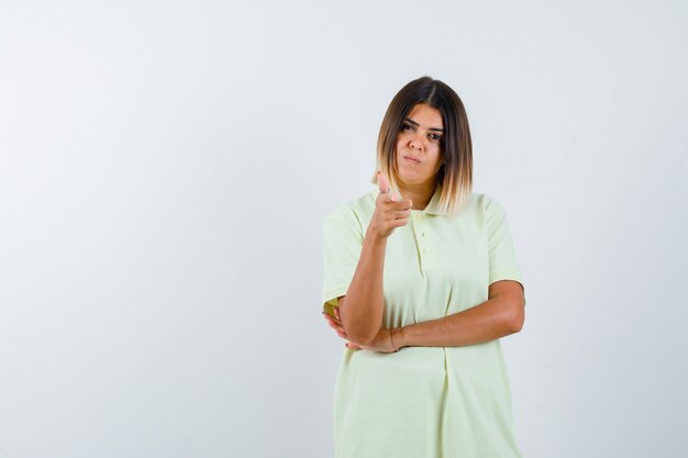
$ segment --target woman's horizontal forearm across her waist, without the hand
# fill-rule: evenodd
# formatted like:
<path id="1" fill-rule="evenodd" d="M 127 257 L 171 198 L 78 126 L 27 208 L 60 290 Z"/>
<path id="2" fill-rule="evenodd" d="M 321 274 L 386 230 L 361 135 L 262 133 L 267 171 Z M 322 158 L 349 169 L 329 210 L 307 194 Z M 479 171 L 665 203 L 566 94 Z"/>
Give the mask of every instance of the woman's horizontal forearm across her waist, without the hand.
<path id="1" fill-rule="evenodd" d="M 492 298 L 463 312 L 397 328 L 395 346 L 458 347 L 504 337 L 521 329 L 521 306 L 511 298 Z"/>

